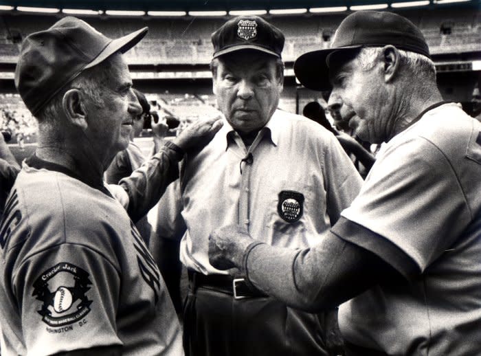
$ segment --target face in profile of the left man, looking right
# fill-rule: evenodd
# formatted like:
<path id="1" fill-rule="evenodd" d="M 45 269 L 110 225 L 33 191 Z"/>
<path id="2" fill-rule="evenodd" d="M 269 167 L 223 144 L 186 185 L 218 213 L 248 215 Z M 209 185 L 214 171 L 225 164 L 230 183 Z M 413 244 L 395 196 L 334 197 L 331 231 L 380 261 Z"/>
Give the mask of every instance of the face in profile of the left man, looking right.
<path id="1" fill-rule="evenodd" d="M 91 148 L 105 157 L 113 157 L 128 146 L 135 117 L 142 112 L 122 55 L 115 54 L 109 60 L 109 74 L 98 83 L 100 102 L 88 96 L 85 101 L 88 122 L 85 135 Z"/>

